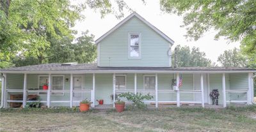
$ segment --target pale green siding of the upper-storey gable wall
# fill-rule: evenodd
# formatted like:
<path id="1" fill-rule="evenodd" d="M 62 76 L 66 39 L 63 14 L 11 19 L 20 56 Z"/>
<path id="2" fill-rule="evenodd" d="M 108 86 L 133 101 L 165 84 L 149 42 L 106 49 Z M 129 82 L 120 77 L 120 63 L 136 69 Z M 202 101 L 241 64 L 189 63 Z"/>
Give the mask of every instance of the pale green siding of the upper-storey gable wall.
<path id="1" fill-rule="evenodd" d="M 128 33 L 141 33 L 141 59 L 128 59 Z M 168 41 L 136 17 L 100 41 L 100 66 L 169 66 Z"/>

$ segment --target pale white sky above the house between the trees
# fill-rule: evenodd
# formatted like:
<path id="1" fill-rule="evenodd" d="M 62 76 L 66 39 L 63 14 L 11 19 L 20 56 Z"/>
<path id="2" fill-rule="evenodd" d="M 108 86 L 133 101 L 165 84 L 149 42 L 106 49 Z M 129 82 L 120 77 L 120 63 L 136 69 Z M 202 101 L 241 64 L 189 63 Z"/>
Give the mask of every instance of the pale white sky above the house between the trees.
<path id="1" fill-rule="evenodd" d="M 199 47 L 200 51 L 205 52 L 207 58 L 220 65 L 220 63 L 217 62 L 220 54 L 228 49 L 239 48 L 239 42 L 228 43 L 228 40 L 224 38 L 220 38 L 218 41 L 214 40 L 214 35 L 216 34 L 214 30 L 205 33 L 204 36 L 197 41 L 189 41 L 188 38 L 184 36 L 186 34 L 186 27 L 180 27 L 183 24 L 182 17 L 161 11 L 159 0 L 148 0 L 146 4 L 138 0 L 125 2 L 132 10 L 136 11 L 141 17 L 145 18 L 148 22 L 157 27 L 157 29 L 175 41 L 172 50 L 177 45 L 187 45 L 191 48 Z M 101 18 L 99 12 L 95 12 L 89 8 L 82 13 L 86 18 L 83 21 L 77 22 L 74 29 L 78 31 L 78 36 L 88 30 L 90 34 L 95 36 L 95 40 L 131 14 L 129 11 L 124 11 L 124 18 L 117 19 L 113 14 Z"/>

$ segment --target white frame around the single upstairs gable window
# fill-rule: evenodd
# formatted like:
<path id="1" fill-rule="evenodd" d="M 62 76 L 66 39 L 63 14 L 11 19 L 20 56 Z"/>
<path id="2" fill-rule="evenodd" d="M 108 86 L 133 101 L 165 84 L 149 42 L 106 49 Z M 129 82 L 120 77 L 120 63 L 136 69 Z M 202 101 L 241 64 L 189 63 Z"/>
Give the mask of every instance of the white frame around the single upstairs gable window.
<path id="1" fill-rule="evenodd" d="M 139 35 L 139 56 L 131 57 L 131 35 Z M 141 59 L 141 33 L 128 33 L 128 59 Z"/>

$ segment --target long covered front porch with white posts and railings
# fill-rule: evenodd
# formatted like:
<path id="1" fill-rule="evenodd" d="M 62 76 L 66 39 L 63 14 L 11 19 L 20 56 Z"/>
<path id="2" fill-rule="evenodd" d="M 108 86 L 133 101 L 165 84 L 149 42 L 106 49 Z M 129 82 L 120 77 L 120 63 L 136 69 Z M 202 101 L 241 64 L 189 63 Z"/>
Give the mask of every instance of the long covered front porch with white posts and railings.
<path id="1" fill-rule="evenodd" d="M 47 78 L 47 90 L 40 89 L 40 77 Z M 54 77 L 59 80 L 52 79 Z M 118 77 L 124 77 L 125 87 L 120 87 L 123 81 Z M 182 85 L 179 87 L 180 77 Z M 40 103 L 47 107 L 71 108 L 79 105 L 84 98 L 93 102 L 92 107 L 97 105 L 97 99 L 104 99 L 104 104 L 114 106 L 116 94 L 122 92 L 150 93 L 154 99 L 145 103 L 156 108 L 182 104 L 208 108 L 212 103 L 209 96 L 212 89 L 220 92 L 219 106 L 226 107 L 230 103 L 250 105 L 253 100 L 252 73 L 4 73 L 4 78 L 2 87 L 5 108 L 10 107 L 11 103 L 22 103 L 25 107 L 28 102 L 38 101 L 28 100 L 29 95 L 39 96 Z M 152 78 L 152 82 L 145 81 Z M 81 84 L 77 84 L 79 79 Z M 176 85 L 172 84 L 173 79 L 177 80 Z M 63 85 L 56 84 L 58 81 Z M 22 99 L 11 99 L 13 94 L 22 94 Z M 164 103 L 172 105 L 163 105 Z"/>

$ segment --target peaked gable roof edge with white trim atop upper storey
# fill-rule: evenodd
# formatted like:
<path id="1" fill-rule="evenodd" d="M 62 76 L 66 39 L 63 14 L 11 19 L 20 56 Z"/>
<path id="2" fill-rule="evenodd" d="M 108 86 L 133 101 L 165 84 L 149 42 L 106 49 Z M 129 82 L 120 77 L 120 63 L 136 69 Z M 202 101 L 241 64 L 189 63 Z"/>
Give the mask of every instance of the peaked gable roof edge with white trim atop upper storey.
<path id="1" fill-rule="evenodd" d="M 160 36 L 162 36 L 165 40 L 167 40 L 168 42 L 171 43 L 171 45 L 173 45 L 174 41 L 169 38 L 166 34 L 164 34 L 162 31 L 160 31 L 159 29 L 157 29 L 155 26 L 153 26 L 152 24 L 150 24 L 147 20 L 145 20 L 145 18 L 141 17 L 138 13 L 134 12 L 131 13 L 131 15 L 129 15 L 128 17 L 126 17 L 124 20 L 122 20 L 121 22 L 119 22 L 115 27 L 113 27 L 112 29 L 110 29 L 107 33 L 103 34 L 102 36 L 100 36 L 100 38 L 98 38 L 95 43 L 98 44 L 101 40 L 103 40 L 104 38 L 106 38 L 106 36 L 108 36 L 109 34 L 113 33 L 113 31 L 115 31 L 116 29 L 118 29 L 118 27 L 122 26 L 125 22 L 127 22 L 128 20 L 130 20 L 132 17 L 137 17 L 139 18 L 144 24 L 146 24 L 148 27 L 150 27 L 151 29 L 153 29 L 154 31 L 156 31 L 156 33 L 158 33 Z"/>

